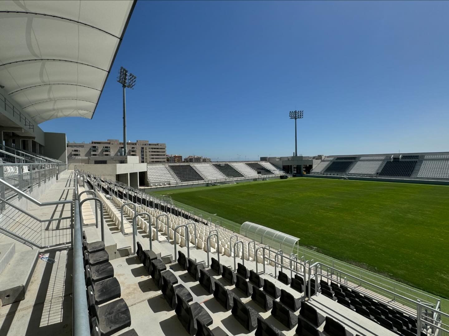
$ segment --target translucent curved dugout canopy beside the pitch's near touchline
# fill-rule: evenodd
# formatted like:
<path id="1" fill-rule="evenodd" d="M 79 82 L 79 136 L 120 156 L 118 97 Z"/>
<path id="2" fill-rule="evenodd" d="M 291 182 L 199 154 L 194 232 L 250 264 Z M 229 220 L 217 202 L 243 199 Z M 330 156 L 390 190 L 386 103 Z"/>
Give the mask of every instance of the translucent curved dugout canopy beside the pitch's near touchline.
<path id="1" fill-rule="evenodd" d="M 240 226 L 240 234 L 288 254 L 294 251 L 299 241 L 299 238 L 289 234 L 251 222 L 245 222 Z"/>

